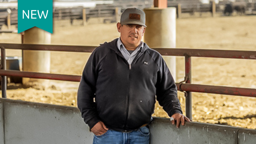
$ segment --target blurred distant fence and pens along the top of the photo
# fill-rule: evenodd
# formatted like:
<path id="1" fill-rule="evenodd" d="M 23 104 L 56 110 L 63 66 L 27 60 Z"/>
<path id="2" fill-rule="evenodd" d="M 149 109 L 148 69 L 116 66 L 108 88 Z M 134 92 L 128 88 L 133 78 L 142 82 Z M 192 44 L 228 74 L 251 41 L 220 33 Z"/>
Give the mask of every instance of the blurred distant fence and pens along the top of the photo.
<path id="1" fill-rule="evenodd" d="M 177 17 L 181 13 L 194 15 L 199 13 L 224 13 L 230 15 L 233 12 L 241 14 L 254 14 L 256 0 L 168 0 L 168 7 L 176 7 Z M 0 30 L 3 25 L 8 29 L 11 26 L 17 29 L 18 14 L 17 0 L 0 0 Z M 83 24 L 91 18 L 102 18 L 103 22 L 117 22 L 124 9 L 138 7 L 140 9 L 153 6 L 153 0 L 107 0 L 107 1 L 54 1 L 53 18 L 55 20 L 69 19 L 73 24 L 74 19 L 83 19 Z M 5 31 L 8 32 L 8 31 Z M 10 31 L 13 32 L 13 31 Z"/>

